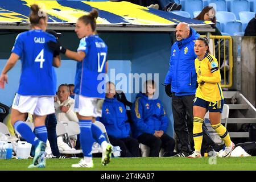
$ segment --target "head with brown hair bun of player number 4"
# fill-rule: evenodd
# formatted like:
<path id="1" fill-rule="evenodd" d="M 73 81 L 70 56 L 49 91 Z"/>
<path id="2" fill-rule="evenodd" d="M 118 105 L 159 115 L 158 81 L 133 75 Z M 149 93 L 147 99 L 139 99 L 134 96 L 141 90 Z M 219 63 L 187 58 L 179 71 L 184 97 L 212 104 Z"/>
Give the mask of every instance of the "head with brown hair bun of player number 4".
<path id="1" fill-rule="evenodd" d="M 46 13 L 43 10 L 40 10 L 39 6 L 34 4 L 30 6 L 30 23 L 32 25 L 39 24 L 41 18 L 46 19 Z"/>

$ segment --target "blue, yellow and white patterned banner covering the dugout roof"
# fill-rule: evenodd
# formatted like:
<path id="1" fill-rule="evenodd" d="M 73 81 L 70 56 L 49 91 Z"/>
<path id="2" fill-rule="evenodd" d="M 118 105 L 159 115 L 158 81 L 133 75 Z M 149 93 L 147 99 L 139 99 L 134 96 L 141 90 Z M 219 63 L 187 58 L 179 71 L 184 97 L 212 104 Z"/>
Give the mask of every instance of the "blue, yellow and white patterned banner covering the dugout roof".
<path id="1" fill-rule="evenodd" d="M 168 26 L 180 22 L 208 24 L 200 20 L 184 18 L 166 11 L 155 10 L 130 2 L 88 2 L 88 1 L 35 1 L 0 0 L 0 23 L 29 22 L 30 6 L 38 4 L 48 14 L 49 23 L 76 23 L 77 18 L 98 10 L 97 24 L 135 24 Z"/>

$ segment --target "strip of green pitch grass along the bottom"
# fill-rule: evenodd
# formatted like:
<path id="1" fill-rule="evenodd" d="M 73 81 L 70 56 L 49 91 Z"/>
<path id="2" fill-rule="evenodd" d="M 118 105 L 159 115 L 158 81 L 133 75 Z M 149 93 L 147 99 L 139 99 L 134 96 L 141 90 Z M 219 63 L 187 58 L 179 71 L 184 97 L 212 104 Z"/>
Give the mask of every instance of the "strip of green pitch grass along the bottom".
<path id="1" fill-rule="evenodd" d="M 256 157 L 246 158 L 216 158 L 217 164 L 209 164 L 210 158 L 188 159 L 188 158 L 113 158 L 108 166 L 101 166 L 101 159 L 94 158 L 94 168 L 71 168 L 71 164 L 79 162 L 80 159 L 47 159 L 46 168 L 28 169 L 32 159 L 10 159 L 0 160 L 0 170 L 6 171 L 170 171 L 170 170 L 256 170 Z M 210 160 L 214 163 L 215 160 Z"/>

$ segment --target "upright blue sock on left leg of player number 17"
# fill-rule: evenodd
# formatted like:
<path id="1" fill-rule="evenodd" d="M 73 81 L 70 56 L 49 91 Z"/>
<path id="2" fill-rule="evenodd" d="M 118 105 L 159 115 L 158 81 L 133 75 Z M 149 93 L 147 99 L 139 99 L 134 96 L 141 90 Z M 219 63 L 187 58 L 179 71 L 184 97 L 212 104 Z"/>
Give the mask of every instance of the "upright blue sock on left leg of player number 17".
<path id="1" fill-rule="evenodd" d="M 86 157 L 92 157 L 92 145 L 94 139 L 92 137 L 92 120 L 79 120 L 80 125 L 80 143 L 82 152 Z"/>

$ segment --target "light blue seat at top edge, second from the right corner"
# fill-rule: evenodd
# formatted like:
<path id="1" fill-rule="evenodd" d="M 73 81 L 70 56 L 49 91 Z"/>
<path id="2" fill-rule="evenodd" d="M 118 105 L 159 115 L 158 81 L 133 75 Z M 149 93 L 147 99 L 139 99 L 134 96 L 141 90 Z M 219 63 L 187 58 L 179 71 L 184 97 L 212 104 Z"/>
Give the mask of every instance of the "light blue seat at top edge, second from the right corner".
<path id="1" fill-rule="evenodd" d="M 230 12 L 233 12 L 237 19 L 239 19 L 238 13 L 240 11 L 250 11 L 249 1 L 247 0 L 233 0 L 230 2 Z"/>

